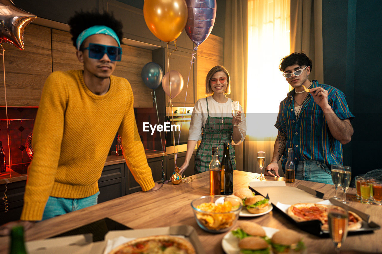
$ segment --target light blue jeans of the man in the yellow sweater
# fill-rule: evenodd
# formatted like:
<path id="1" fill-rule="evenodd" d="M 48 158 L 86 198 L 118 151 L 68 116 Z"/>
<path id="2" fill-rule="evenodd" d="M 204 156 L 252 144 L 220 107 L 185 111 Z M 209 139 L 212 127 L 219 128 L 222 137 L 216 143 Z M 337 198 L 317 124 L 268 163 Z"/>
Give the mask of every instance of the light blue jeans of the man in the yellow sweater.
<path id="1" fill-rule="evenodd" d="M 58 215 L 73 212 L 88 206 L 97 204 L 99 191 L 87 198 L 55 198 L 49 197 L 45 206 L 42 220 L 53 218 Z"/>

